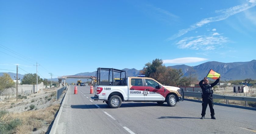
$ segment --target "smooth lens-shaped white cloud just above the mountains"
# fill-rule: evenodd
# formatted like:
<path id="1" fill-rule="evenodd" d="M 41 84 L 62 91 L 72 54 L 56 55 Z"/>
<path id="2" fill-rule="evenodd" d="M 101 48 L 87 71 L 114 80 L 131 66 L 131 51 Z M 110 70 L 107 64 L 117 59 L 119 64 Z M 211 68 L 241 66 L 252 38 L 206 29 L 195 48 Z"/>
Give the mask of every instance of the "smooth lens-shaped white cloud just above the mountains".
<path id="1" fill-rule="evenodd" d="M 198 58 L 198 57 L 185 57 L 185 58 L 176 58 L 171 60 L 163 60 L 163 63 L 174 63 L 174 64 L 185 64 L 185 63 L 194 63 L 194 62 L 201 62 L 206 61 L 206 58 Z"/>

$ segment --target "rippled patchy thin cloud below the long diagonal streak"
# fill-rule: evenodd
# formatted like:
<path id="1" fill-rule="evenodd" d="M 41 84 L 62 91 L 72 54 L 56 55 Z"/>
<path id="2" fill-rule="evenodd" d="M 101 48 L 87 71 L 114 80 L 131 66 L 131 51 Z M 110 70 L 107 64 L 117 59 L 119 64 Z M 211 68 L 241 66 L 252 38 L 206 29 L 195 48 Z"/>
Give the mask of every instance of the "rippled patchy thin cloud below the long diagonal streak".
<path id="1" fill-rule="evenodd" d="M 220 35 L 218 33 L 218 35 Z M 222 48 L 223 44 L 229 42 L 228 38 L 216 35 L 203 35 L 197 37 L 185 37 L 178 41 L 176 45 L 181 49 L 194 49 L 194 50 L 215 50 Z"/>

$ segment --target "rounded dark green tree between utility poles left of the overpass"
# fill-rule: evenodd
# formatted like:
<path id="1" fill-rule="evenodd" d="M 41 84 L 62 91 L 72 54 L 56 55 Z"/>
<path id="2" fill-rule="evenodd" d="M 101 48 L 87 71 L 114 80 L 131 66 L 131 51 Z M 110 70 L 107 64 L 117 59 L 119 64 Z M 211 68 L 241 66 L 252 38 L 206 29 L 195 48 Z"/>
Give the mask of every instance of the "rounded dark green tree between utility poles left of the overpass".
<path id="1" fill-rule="evenodd" d="M 35 85 L 35 84 L 37 84 L 37 79 L 38 79 L 38 83 L 43 82 L 43 79 L 40 78 L 40 76 L 37 76 L 36 73 L 34 73 L 34 74 L 27 73 L 24 75 L 23 79 L 21 80 L 21 84 Z"/>

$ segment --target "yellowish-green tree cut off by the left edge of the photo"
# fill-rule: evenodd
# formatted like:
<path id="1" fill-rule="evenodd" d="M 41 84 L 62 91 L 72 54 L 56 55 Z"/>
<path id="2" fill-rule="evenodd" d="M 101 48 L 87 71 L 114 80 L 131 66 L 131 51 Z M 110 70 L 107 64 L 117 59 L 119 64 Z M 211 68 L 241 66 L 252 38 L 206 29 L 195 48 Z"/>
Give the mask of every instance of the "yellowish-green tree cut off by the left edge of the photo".
<path id="1" fill-rule="evenodd" d="M 2 92 L 5 90 L 5 89 L 8 89 L 12 86 L 15 85 L 15 82 L 13 82 L 11 76 L 7 73 L 3 73 L 3 76 L 0 77 L 0 91 L 1 91 L 1 95 L 2 95 Z"/>

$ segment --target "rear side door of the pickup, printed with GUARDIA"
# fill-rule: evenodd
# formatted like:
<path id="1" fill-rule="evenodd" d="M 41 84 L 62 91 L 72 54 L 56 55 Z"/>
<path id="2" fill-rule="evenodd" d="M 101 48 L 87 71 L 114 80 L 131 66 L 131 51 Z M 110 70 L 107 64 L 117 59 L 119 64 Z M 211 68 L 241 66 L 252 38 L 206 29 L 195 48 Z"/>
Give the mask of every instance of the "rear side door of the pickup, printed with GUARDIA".
<path id="1" fill-rule="evenodd" d="M 130 79 L 129 101 L 144 101 L 145 86 L 140 78 Z"/>

